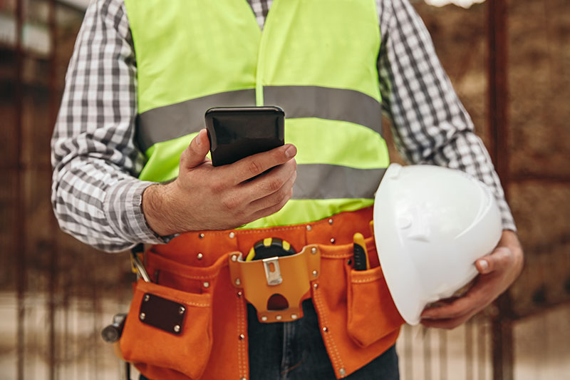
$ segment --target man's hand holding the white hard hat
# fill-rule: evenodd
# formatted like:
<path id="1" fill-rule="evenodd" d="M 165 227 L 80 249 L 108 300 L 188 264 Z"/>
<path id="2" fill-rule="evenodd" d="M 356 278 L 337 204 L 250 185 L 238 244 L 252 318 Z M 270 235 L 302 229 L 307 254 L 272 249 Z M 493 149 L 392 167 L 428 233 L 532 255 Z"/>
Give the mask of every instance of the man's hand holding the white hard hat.
<path id="1" fill-rule="evenodd" d="M 522 271 L 523 254 L 517 234 L 504 230 L 494 251 L 475 262 L 479 276 L 469 291 L 460 298 L 442 301 L 422 313 L 427 327 L 454 329 L 494 301 L 514 282 Z"/>

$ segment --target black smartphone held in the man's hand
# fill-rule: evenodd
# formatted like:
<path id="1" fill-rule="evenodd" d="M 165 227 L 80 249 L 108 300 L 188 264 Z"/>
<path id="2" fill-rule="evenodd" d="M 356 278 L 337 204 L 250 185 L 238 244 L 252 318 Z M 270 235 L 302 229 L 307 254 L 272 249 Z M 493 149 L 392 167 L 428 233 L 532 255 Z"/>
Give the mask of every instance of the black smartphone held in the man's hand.
<path id="1" fill-rule="evenodd" d="M 214 107 L 206 111 L 212 165 L 234 163 L 284 145 L 284 111 L 276 106 Z"/>

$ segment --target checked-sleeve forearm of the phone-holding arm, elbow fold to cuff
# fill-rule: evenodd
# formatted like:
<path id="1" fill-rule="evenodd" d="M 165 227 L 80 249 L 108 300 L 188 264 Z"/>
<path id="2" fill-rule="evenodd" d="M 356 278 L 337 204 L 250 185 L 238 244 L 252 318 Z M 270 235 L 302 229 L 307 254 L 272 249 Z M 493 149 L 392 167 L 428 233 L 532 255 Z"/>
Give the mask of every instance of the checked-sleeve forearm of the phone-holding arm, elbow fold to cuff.
<path id="1" fill-rule="evenodd" d="M 140 207 L 145 183 L 101 160 L 77 158 L 53 173 L 51 201 L 61 229 L 98 250 L 158 243 Z"/>

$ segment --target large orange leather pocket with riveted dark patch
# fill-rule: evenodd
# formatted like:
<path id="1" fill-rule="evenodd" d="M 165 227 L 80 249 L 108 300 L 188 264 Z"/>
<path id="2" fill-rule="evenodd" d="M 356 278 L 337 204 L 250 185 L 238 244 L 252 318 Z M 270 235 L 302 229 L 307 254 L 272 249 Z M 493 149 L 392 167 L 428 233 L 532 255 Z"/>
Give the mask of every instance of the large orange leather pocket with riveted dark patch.
<path id="1" fill-rule="evenodd" d="M 212 296 L 139 279 L 119 344 L 126 361 L 198 379 L 212 349 Z"/>

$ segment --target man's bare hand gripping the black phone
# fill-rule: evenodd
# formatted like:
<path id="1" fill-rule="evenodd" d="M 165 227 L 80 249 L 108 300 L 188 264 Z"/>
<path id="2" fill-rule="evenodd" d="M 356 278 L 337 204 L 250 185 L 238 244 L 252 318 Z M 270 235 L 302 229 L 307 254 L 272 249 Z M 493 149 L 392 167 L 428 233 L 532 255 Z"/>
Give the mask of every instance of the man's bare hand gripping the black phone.
<path id="1" fill-rule="evenodd" d="M 208 151 L 203 129 L 182 152 L 176 180 L 151 185 L 143 193 L 142 210 L 157 234 L 239 227 L 281 210 L 291 198 L 296 179 L 294 145 L 217 168 L 206 158 Z"/>

